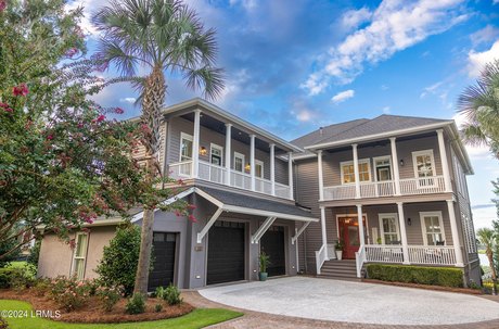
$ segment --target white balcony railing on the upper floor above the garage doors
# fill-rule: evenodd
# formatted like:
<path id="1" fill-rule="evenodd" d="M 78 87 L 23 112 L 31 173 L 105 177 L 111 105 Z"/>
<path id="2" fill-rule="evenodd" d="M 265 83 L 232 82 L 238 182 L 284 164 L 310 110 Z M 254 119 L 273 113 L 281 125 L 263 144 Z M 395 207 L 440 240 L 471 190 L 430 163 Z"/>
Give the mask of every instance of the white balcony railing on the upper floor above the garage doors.
<path id="1" fill-rule="evenodd" d="M 169 177 L 174 179 L 194 178 L 194 164 L 192 161 L 169 164 Z M 291 189 L 289 186 L 271 180 L 255 177 L 255 187 L 252 188 L 252 176 L 245 173 L 229 169 L 205 161 L 199 162 L 197 179 L 219 185 L 230 186 L 242 190 L 254 191 L 267 195 L 290 199 Z M 228 181 L 229 180 L 229 181 Z"/>

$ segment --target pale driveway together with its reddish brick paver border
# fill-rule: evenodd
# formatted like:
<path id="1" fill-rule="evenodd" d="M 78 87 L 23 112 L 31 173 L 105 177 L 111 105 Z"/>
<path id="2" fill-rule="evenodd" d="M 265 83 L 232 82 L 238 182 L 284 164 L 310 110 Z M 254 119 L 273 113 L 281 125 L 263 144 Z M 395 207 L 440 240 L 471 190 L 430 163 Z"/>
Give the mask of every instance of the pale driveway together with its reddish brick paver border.
<path id="1" fill-rule="evenodd" d="M 342 292 L 334 292 L 331 290 L 332 288 Z M 359 292 L 362 294 L 358 295 Z M 200 295 L 200 293 L 203 295 L 209 294 L 209 299 L 214 299 L 217 302 L 207 300 Z M 226 307 L 245 313 L 241 318 L 214 326 L 214 328 L 499 328 L 498 303 L 459 293 L 303 277 L 214 287 L 202 289 L 200 293 L 196 291 L 183 292 L 183 296 L 187 302 L 197 307 Z M 324 296 L 329 296 L 332 293 L 333 298 L 330 299 L 341 300 L 341 302 L 331 305 L 329 304 L 331 302 L 328 302 L 327 298 L 325 304 L 328 306 L 323 307 L 321 304 L 324 303 Z M 214 298 L 214 295 L 217 295 L 217 298 Z M 397 304 L 385 303 L 385 300 L 393 298 L 397 299 Z M 420 302 L 423 298 L 425 302 L 421 304 Z M 234 299 L 235 301 L 239 300 L 240 304 L 234 303 Z M 307 304 L 310 302 L 309 299 L 315 300 L 312 305 Z M 264 303 L 261 303 L 263 300 Z M 341 309 L 345 308 L 344 306 L 348 306 L 349 302 L 346 302 L 348 300 L 354 300 L 357 304 L 359 301 L 367 301 L 366 303 L 369 302 L 374 304 L 374 306 L 366 309 L 363 305 L 354 305 L 353 309 L 343 313 Z M 242 306 L 241 301 L 245 301 L 246 305 Z M 496 299 L 496 301 L 498 300 Z M 227 304 L 232 306 L 228 307 Z M 281 314 L 252 311 L 258 308 L 258 305 L 261 304 L 266 304 L 267 307 L 270 305 L 273 307 L 273 311 L 276 311 L 276 307 L 279 308 L 280 305 L 287 306 L 287 308 L 285 312 L 281 312 Z M 404 307 L 400 308 L 399 305 L 408 307 L 406 314 L 404 312 L 397 313 L 398 311 L 404 311 Z M 353 305 L 350 304 L 349 306 Z M 396 309 L 387 307 L 396 307 Z M 473 315 L 465 311 L 470 308 L 478 312 L 478 314 Z M 324 320 L 320 317 L 319 309 L 325 309 L 328 314 L 336 315 L 336 317 L 330 317 L 328 320 Z M 332 309 L 336 311 L 332 312 Z M 376 309 L 376 313 L 373 317 L 370 317 L 373 309 Z M 435 309 L 443 311 L 438 318 L 433 316 Z M 266 311 L 268 312 L 269 309 Z M 411 315 L 414 313 L 424 315 L 425 312 L 430 312 L 427 317 L 414 317 Z M 409 319 L 407 315 L 409 315 Z M 346 319 L 344 318 L 345 316 L 350 316 L 350 318 Z M 415 318 L 421 321 L 415 321 Z M 433 319 L 434 322 L 430 324 L 427 318 Z M 449 322 L 444 321 L 444 319 L 449 318 Z M 456 325 L 456 318 L 460 319 L 461 325 Z M 388 321 L 388 319 L 395 319 L 395 321 Z M 423 326 L 422 324 L 428 326 Z M 439 325 L 437 326 L 437 324 Z"/>

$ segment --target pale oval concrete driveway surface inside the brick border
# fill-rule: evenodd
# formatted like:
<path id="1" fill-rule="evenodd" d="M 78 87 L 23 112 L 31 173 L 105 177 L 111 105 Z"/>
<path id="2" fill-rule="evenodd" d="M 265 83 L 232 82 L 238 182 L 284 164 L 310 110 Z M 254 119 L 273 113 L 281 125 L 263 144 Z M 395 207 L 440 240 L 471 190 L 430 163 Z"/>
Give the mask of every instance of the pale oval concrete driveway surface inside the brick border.
<path id="1" fill-rule="evenodd" d="M 499 318 L 499 303 L 478 296 L 309 277 L 213 287 L 199 292 L 238 308 L 330 321 L 457 325 Z"/>

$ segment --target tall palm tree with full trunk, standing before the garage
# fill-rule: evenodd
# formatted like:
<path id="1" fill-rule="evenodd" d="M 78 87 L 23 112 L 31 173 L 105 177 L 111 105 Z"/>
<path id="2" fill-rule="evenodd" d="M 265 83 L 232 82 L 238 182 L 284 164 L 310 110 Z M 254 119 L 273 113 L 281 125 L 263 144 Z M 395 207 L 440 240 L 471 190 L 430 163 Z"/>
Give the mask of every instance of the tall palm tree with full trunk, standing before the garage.
<path id="1" fill-rule="evenodd" d="M 181 75 L 190 89 L 215 98 L 223 88 L 222 71 L 215 67 L 215 30 L 204 28 L 197 14 L 176 0 L 111 0 L 92 22 L 101 33 L 99 59 L 114 64 L 124 77 L 148 69 L 141 86 L 142 144 L 145 147 L 146 182 L 161 175 L 161 109 L 166 94 L 166 74 Z M 137 79 L 136 79 L 137 80 Z M 154 202 L 144 204 L 139 265 L 133 293 L 148 292 Z"/>

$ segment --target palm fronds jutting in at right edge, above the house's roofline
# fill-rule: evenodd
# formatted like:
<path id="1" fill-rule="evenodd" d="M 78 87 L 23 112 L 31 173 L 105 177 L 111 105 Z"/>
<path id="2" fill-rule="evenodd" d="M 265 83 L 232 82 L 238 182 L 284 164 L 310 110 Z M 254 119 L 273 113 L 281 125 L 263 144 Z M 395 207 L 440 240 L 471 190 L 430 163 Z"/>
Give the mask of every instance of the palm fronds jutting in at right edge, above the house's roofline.
<path id="1" fill-rule="evenodd" d="M 499 157 L 499 60 L 485 65 L 475 86 L 459 97 L 458 112 L 466 123 L 461 132 L 471 145 L 487 145 Z"/>

